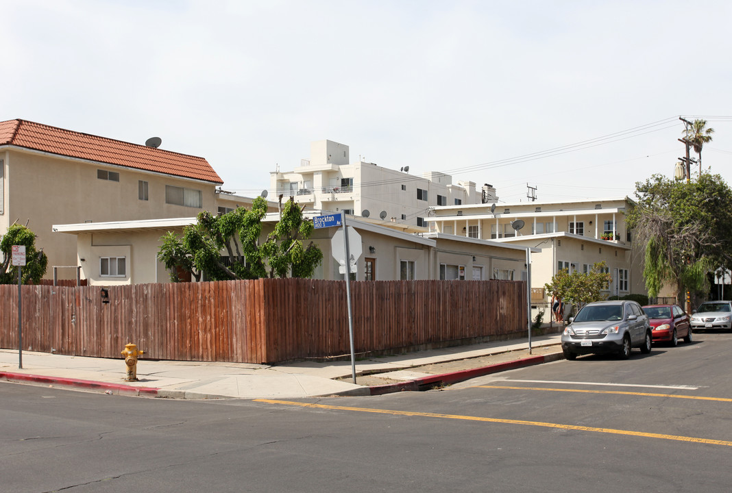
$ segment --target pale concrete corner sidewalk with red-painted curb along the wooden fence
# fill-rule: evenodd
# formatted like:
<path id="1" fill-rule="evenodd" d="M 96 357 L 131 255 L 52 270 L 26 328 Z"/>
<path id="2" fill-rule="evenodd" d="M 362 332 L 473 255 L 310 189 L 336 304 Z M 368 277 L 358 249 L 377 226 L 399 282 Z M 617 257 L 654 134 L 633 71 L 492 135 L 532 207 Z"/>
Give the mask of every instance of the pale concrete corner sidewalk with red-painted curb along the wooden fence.
<path id="1" fill-rule="evenodd" d="M 529 366 L 560 358 L 559 334 L 534 337 L 531 347 L 544 355 L 508 358 L 501 364 L 470 368 L 449 375 L 427 375 L 410 370 L 429 364 L 526 350 L 526 339 L 486 342 L 478 345 L 426 350 L 406 355 L 356 361 L 356 375 L 378 373 L 400 383 L 356 385 L 351 383 L 351 362 L 299 361 L 268 366 L 260 364 L 198 361 L 138 362 L 138 382 L 125 382 L 124 359 L 87 358 L 23 351 L 18 369 L 18 350 L 0 350 L 0 380 L 103 391 L 107 394 L 168 397 L 173 399 L 296 399 L 332 395 L 376 395 L 418 390 L 433 383 L 455 383 L 504 369 Z M 552 350 L 547 350 L 550 347 Z M 122 348 L 120 349 L 122 350 Z M 548 355 L 547 353 L 552 353 Z M 506 358 L 504 358 L 506 359 Z M 469 366 L 469 365 L 468 365 Z M 494 366 L 494 367 L 493 367 Z M 347 377 L 345 380 L 334 380 Z"/>

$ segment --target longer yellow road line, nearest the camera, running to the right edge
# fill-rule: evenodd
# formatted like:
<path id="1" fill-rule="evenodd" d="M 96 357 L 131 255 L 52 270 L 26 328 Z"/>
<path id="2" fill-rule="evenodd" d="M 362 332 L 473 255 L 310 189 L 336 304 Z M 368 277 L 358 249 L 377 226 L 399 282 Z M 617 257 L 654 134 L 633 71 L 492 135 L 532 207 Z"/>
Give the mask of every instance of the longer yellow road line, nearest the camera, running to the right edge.
<path id="1" fill-rule="evenodd" d="M 573 429 L 580 432 L 597 432 L 610 434 L 624 434 L 632 437 L 660 438 L 662 440 L 676 440 L 679 442 L 706 443 L 708 445 L 726 445 L 732 447 L 732 442 L 726 440 L 709 440 L 708 438 L 682 437 L 673 434 L 661 433 L 643 433 L 633 432 L 625 429 L 612 428 L 595 428 L 594 426 L 577 426 L 571 424 L 559 423 L 542 423 L 541 421 L 523 421 L 518 419 L 499 419 L 499 418 L 482 418 L 480 416 L 466 416 L 459 414 L 441 414 L 441 413 L 419 413 L 416 411 L 396 411 L 388 409 L 373 409 L 370 407 L 348 407 L 348 406 L 331 406 L 328 404 L 308 404 L 307 402 L 280 401 L 277 399 L 255 399 L 254 402 L 266 402 L 267 404 L 283 404 L 288 406 L 314 407 L 317 409 L 330 409 L 339 411 L 356 411 L 358 413 L 376 413 L 400 416 L 422 416 L 425 418 L 447 418 L 460 419 L 465 421 L 483 421 L 487 423 L 503 423 L 503 424 L 523 424 L 529 426 L 544 426 L 545 428 L 556 429 Z"/>

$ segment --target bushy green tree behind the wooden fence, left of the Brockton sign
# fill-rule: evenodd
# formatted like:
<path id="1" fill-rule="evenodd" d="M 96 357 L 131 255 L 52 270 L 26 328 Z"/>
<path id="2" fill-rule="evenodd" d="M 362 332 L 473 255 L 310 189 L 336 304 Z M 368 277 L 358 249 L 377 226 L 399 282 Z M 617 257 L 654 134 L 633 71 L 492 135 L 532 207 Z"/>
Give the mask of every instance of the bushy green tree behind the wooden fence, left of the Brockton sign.
<path id="1" fill-rule="evenodd" d="M 212 281 L 312 276 L 323 259 L 312 241 L 304 244 L 313 233 L 313 222 L 303 217 L 302 208 L 290 198 L 284 206 L 280 202 L 280 221 L 261 241 L 261 221 L 266 212 L 262 197 L 254 200 L 250 210 L 236 208 L 220 216 L 203 211 L 195 225 L 184 228 L 182 237 L 174 233 L 163 236 L 157 256 L 173 271 L 173 281 L 179 280 L 178 268 L 196 280 L 206 274 Z M 227 263 L 221 258 L 224 250 Z"/>

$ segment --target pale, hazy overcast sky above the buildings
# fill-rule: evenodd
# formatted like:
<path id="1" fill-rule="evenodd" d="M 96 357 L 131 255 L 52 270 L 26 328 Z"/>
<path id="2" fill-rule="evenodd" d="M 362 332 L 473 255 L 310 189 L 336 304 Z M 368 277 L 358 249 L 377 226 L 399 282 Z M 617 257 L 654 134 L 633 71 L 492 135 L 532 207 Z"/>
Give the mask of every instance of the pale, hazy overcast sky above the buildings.
<path id="1" fill-rule="evenodd" d="M 239 195 L 335 140 L 500 202 L 632 197 L 684 124 L 732 180 L 732 2 L 0 0 L 0 121 L 204 157 Z M 693 154 L 693 152 L 692 152 Z M 272 192 L 272 191 L 270 191 Z"/>

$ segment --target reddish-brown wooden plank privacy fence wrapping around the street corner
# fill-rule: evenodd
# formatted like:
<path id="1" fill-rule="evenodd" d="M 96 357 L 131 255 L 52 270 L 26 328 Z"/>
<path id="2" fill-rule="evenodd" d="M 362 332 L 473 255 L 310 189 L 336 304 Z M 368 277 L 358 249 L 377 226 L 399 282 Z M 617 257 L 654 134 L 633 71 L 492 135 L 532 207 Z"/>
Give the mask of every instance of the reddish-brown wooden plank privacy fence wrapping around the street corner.
<path id="1" fill-rule="evenodd" d="M 23 286 L 23 350 L 119 358 L 277 363 L 350 353 L 346 285 L 313 279 L 105 287 Z M 356 353 L 526 330 L 515 281 L 352 282 Z M 18 286 L 0 285 L 0 347 L 18 348 Z"/>

